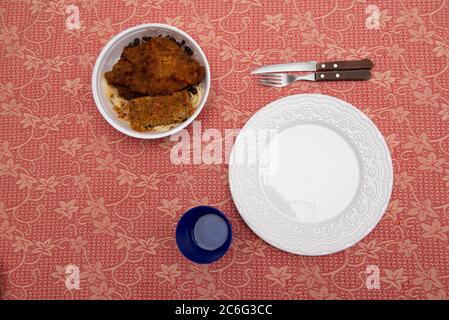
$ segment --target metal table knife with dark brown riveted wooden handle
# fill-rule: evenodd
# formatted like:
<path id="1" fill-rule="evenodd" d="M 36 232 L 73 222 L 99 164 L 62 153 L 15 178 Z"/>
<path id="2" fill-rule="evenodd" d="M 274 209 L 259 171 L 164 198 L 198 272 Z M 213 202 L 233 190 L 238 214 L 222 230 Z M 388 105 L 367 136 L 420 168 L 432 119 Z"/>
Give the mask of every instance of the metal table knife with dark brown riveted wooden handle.
<path id="1" fill-rule="evenodd" d="M 270 72 L 295 72 L 295 71 L 340 71 L 340 70 L 369 70 L 374 67 L 374 63 L 369 59 L 350 61 L 327 61 L 327 62 L 293 62 L 272 64 L 257 68 L 251 74 Z"/>

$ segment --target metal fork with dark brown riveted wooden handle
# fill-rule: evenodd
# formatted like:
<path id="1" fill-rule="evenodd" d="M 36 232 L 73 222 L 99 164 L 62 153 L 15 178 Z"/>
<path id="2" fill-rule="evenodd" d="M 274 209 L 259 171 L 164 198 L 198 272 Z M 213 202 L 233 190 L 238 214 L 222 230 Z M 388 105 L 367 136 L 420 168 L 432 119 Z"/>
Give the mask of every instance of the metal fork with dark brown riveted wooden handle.
<path id="1" fill-rule="evenodd" d="M 259 83 L 264 86 L 282 88 L 295 81 L 364 81 L 371 78 L 369 70 L 346 70 L 308 73 L 305 75 L 292 75 L 287 73 L 262 73 Z"/>

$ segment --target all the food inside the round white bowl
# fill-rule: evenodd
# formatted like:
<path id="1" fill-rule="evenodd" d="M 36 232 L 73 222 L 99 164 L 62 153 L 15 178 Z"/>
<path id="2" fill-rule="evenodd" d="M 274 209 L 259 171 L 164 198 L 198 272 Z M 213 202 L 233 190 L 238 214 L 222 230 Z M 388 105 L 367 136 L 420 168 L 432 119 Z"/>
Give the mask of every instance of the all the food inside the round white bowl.
<path id="1" fill-rule="evenodd" d="M 106 94 L 136 131 L 165 131 L 197 107 L 205 69 L 171 37 L 136 39 L 104 75 Z"/>

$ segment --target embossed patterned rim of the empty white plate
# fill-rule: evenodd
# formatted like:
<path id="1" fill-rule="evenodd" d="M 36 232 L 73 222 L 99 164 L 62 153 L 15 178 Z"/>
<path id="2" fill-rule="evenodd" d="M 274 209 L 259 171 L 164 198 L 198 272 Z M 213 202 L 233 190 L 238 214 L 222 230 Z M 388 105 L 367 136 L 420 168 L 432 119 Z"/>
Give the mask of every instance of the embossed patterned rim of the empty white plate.
<path id="1" fill-rule="evenodd" d="M 320 116 L 324 118 L 328 117 L 328 119 L 325 119 L 328 122 L 325 123 L 327 125 L 334 123 L 334 129 L 340 134 L 343 134 L 351 142 L 353 147 L 356 148 L 357 153 L 362 154 L 360 159 L 363 166 L 362 172 L 365 170 L 365 167 L 367 168 L 367 171 L 363 173 L 364 176 L 362 177 L 363 192 L 358 195 L 359 199 L 357 199 L 353 207 L 348 208 L 347 212 L 338 218 L 338 223 L 334 223 L 332 220 L 330 222 L 324 221 L 316 224 L 318 226 L 292 223 L 286 217 L 280 216 L 279 214 L 276 216 L 276 214 L 273 214 L 269 210 L 264 211 L 264 206 L 257 202 L 257 200 L 260 201 L 257 198 L 257 192 L 252 193 L 257 191 L 255 189 L 258 187 L 250 186 L 249 183 L 245 185 L 242 182 L 244 179 L 247 179 L 248 182 L 254 181 L 254 179 L 258 180 L 257 176 L 251 177 L 251 174 L 254 175 L 254 172 L 257 172 L 257 170 L 254 171 L 254 165 L 242 166 L 241 164 L 233 163 L 236 153 L 242 150 L 239 137 L 242 136 L 245 130 L 257 128 L 258 125 L 263 127 L 263 125 L 271 121 L 267 119 L 275 119 L 276 114 L 279 115 L 288 112 L 292 112 L 290 116 L 295 116 L 296 113 L 298 117 L 302 117 L 300 118 L 301 120 L 308 119 L 306 116 L 312 119 Z M 329 115 L 337 116 L 338 120 L 331 118 Z M 358 143 L 356 141 L 357 139 L 354 138 L 356 136 L 355 133 L 350 133 L 351 130 L 347 133 L 341 131 L 342 128 L 346 128 L 342 123 L 346 121 L 345 125 L 348 125 L 348 119 L 351 119 L 351 121 L 355 120 L 351 130 L 361 135 L 361 138 L 357 138 L 359 140 Z M 296 120 L 293 119 L 292 121 Z M 275 121 L 271 121 L 270 124 L 275 125 Z M 360 141 L 363 139 L 368 139 L 367 141 L 370 143 L 366 143 L 366 146 L 361 147 Z M 371 159 L 370 156 L 372 161 L 366 161 L 366 159 Z M 369 164 L 367 164 L 368 162 Z M 242 171 L 241 168 L 244 168 L 244 170 Z M 245 175 L 247 176 L 246 178 L 244 178 Z M 269 103 L 256 112 L 244 125 L 236 139 L 230 156 L 229 186 L 238 212 L 250 229 L 260 238 L 274 247 L 287 252 L 310 256 L 325 255 L 347 249 L 362 240 L 375 228 L 389 204 L 393 187 L 393 165 L 388 145 L 382 133 L 363 112 L 353 105 L 332 96 L 323 94 L 298 94 Z M 369 197 L 370 192 L 373 190 L 375 192 L 371 196 L 371 201 L 374 199 L 374 204 L 371 204 Z M 247 192 L 247 194 L 242 196 L 242 192 Z M 253 202 L 254 199 L 256 199 L 256 202 Z M 269 205 L 267 199 L 265 199 L 265 202 Z M 257 206 L 259 207 L 257 208 Z M 365 213 L 365 210 L 367 213 Z M 258 211 L 259 221 L 254 219 L 254 213 L 252 211 Z M 272 220 L 271 222 L 279 220 L 276 221 L 279 223 L 271 224 L 270 219 Z M 265 226 L 260 221 L 265 221 Z M 267 226 L 269 227 L 267 228 Z M 275 228 L 278 229 L 277 234 L 274 234 L 273 230 Z M 279 232 L 280 228 L 284 229 Z M 346 233 L 344 232 L 345 230 L 347 231 Z M 287 236 L 284 236 L 285 231 L 288 231 Z M 293 241 L 290 238 L 287 241 L 286 238 L 292 235 L 294 236 Z M 324 238 L 321 238 L 321 236 Z"/>

